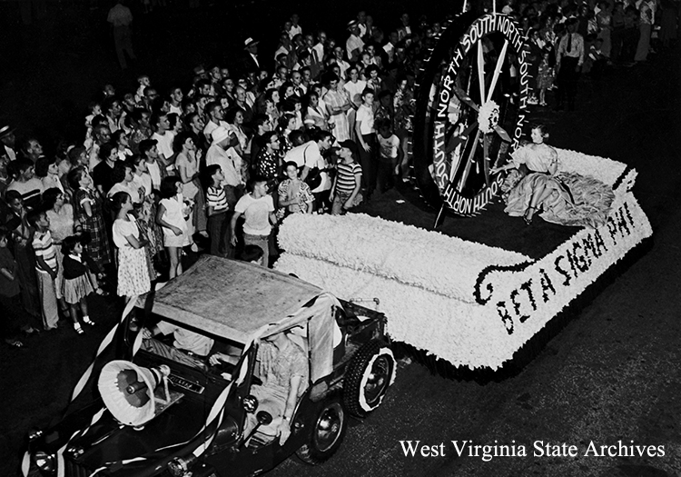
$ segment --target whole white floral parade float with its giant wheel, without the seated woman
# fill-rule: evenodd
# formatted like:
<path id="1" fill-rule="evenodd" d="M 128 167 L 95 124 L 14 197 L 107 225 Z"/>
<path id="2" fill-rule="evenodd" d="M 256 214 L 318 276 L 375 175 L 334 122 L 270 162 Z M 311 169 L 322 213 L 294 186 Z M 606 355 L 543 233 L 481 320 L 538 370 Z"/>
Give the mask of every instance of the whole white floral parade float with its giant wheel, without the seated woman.
<path id="1" fill-rule="evenodd" d="M 429 225 L 405 224 L 396 205 L 281 224 L 279 270 L 339 296 L 378 298 L 391 338 L 447 376 L 518 370 L 652 235 L 635 170 L 561 149 L 560 172 L 612 188 L 607 221 L 518 232 L 525 225 L 503 214 L 505 174 L 492 169 L 528 134 L 527 55 L 509 15 L 464 13 L 438 35 L 417 78 L 410 148 Z M 439 232 L 444 220 L 456 220 L 453 233 Z"/>

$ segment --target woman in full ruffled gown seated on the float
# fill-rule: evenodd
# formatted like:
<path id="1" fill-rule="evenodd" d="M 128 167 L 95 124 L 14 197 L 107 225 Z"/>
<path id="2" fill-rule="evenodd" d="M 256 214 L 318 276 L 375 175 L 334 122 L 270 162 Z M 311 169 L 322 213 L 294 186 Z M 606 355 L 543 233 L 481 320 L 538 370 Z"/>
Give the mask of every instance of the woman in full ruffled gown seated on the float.
<path id="1" fill-rule="evenodd" d="M 541 212 L 547 222 L 560 225 L 598 227 L 607 221 L 610 205 L 615 199 L 610 187 L 592 177 L 558 172 L 558 153 L 544 144 L 548 138 L 546 126 L 538 124 L 531 130 L 532 143 L 518 148 L 512 162 L 492 169 L 492 174 L 508 169 L 502 185 L 506 191 L 506 209 L 511 216 L 522 216 L 532 224 L 534 214 Z"/>

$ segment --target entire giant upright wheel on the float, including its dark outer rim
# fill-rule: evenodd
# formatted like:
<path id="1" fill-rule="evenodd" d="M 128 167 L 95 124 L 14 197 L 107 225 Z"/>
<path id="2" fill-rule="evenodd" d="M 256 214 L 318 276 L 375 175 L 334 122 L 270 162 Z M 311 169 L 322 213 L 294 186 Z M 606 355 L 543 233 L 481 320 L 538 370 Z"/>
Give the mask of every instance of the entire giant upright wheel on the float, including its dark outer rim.
<path id="1" fill-rule="evenodd" d="M 491 170 L 518 146 L 527 115 L 528 49 L 508 15 L 457 15 L 419 73 L 411 154 L 422 197 L 476 215 L 500 193 Z"/>

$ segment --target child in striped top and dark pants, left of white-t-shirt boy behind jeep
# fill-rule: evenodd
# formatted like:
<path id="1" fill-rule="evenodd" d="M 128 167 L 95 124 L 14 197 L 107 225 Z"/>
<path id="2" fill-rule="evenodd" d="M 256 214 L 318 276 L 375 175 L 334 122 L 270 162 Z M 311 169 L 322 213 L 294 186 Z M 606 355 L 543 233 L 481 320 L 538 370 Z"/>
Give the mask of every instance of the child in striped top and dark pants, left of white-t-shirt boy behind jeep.
<path id="1" fill-rule="evenodd" d="M 206 167 L 208 188 L 206 189 L 206 205 L 208 206 L 208 231 L 211 237 L 211 254 L 220 257 L 234 257 L 234 249 L 230 236 L 230 204 L 227 190 L 224 187 L 224 175 L 219 164 Z M 232 193 L 233 189 L 230 189 Z M 232 199 L 234 199 L 232 197 Z"/>

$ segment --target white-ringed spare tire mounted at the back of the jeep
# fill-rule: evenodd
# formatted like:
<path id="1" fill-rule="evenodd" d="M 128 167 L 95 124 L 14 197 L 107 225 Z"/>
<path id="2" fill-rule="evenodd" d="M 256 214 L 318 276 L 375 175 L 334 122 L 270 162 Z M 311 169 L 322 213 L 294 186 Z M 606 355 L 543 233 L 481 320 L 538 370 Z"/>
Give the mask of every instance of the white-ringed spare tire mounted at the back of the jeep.
<path id="1" fill-rule="evenodd" d="M 352 356 L 343 381 L 345 408 L 356 417 L 365 417 L 380 406 L 397 366 L 388 345 L 380 340 L 365 343 Z"/>

